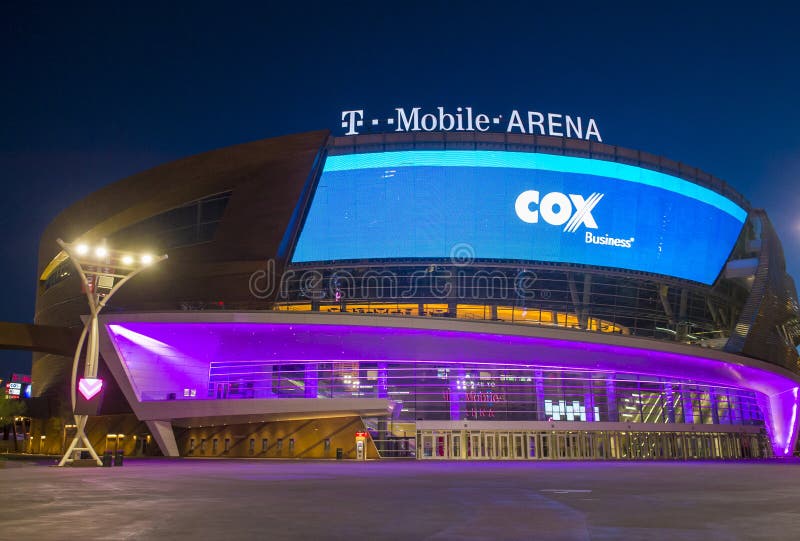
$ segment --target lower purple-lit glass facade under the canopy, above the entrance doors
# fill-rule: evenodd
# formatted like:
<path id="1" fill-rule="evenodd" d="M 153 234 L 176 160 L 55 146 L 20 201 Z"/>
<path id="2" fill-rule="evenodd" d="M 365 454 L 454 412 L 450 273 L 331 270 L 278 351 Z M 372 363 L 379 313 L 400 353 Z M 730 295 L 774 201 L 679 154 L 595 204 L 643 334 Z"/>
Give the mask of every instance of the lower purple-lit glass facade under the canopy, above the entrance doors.
<path id="1" fill-rule="evenodd" d="M 393 419 L 763 426 L 754 392 L 602 371 L 459 363 L 212 362 L 182 398 L 389 398 Z M 167 397 L 163 397 L 166 399 Z"/>

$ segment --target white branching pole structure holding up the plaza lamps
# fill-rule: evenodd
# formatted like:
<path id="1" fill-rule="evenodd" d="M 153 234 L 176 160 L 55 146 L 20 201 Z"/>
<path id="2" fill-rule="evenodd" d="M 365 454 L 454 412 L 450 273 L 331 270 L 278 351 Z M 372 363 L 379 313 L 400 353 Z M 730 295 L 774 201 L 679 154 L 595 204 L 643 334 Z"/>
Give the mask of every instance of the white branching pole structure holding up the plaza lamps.
<path id="1" fill-rule="evenodd" d="M 83 368 L 83 377 L 84 378 L 97 378 L 97 366 L 99 362 L 99 340 L 100 340 L 100 330 L 98 324 L 98 316 L 100 315 L 100 311 L 109 301 L 112 295 L 119 291 L 119 289 L 125 284 L 128 280 L 136 276 L 142 270 L 148 268 L 148 266 L 152 266 L 153 264 L 163 261 L 167 258 L 166 255 L 162 255 L 156 258 L 150 258 L 149 262 L 143 266 L 139 266 L 136 268 L 126 268 L 123 270 L 128 270 L 128 274 L 118 274 L 117 269 L 114 269 L 110 264 L 101 262 L 101 263 L 94 263 L 88 264 L 90 262 L 83 261 L 81 259 L 80 254 L 76 253 L 74 249 L 74 245 L 67 244 L 61 239 L 58 239 L 58 245 L 61 246 L 61 249 L 69 256 L 70 260 L 72 261 L 73 265 L 75 266 L 75 270 L 78 272 L 78 275 L 81 278 L 81 284 L 83 285 L 83 289 L 86 292 L 86 299 L 89 303 L 89 317 L 84 323 L 83 332 L 81 332 L 81 337 L 78 340 L 78 347 L 75 350 L 75 356 L 72 360 L 72 378 L 71 378 L 71 385 L 72 388 L 70 389 L 70 398 L 72 399 L 72 414 L 75 417 L 75 437 L 72 438 L 69 446 L 67 447 L 64 456 L 61 457 L 59 461 L 59 466 L 64 466 L 68 463 L 71 463 L 75 460 L 74 454 L 79 453 L 81 451 L 88 451 L 89 454 L 92 456 L 95 462 L 97 462 L 98 466 L 103 465 L 103 461 L 100 460 L 100 457 L 97 456 L 97 452 L 95 452 L 94 448 L 92 447 L 91 442 L 89 442 L 89 437 L 86 435 L 86 423 L 89 420 L 88 415 L 78 415 L 75 413 L 75 404 L 77 402 L 76 390 L 77 390 L 77 375 L 78 375 L 78 364 L 81 358 L 81 350 L 83 349 L 84 342 L 86 343 L 86 361 L 84 363 Z M 104 248 L 105 250 L 105 248 Z M 83 263 L 87 263 L 85 268 Z M 92 269 L 91 267 L 102 267 L 102 270 Z M 110 276 L 114 279 L 113 287 L 108 291 L 108 293 L 101 295 L 98 291 L 97 287 L 93 287 L 93 284 L 90 283 L 89 279 L 87 278 L 87 274 L 94 275 L 96 277 L 99 276 Z M 119 278 L 119 280 L 117 280 Z M 95 284 L 96 286 L 97 284 Z"/>

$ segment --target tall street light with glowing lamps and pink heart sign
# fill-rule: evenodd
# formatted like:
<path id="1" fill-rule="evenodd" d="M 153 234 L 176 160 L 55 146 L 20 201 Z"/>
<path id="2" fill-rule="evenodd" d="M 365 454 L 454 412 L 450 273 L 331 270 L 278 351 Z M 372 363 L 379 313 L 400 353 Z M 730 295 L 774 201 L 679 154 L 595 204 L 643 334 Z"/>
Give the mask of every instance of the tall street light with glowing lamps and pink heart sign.
<path id="1" fill-rule="evenodd" d="M 76 389 L 80 387 L 81 394 L 88 400 L 100 392 L 103 386 L 102 380 L 97 379 L 97 364 L 99 359 L 99 331 L 97 316 L 109 301 L 111 296 L 116 293 L 122 285 L 139 274 L 142 270 L 151 267 L 159 261 L 167 258 L 166 255 L 153 256 L 151 254 L 133 254 L 131 252 L 109 249 L 105 241 L 94 247 L 84 242 L 67 244 L 58 239 L 58 245 L 72 260 L 75 270 L 81 278 L 81 285 L 86 298 L 89 301 L 89 318 L 83 326 L 83 332 L 78 340 L 78 347 L 75 350 L 75 357 L 72 360 L 72 387 L 70 398 L 72 399 L 72 413 L 75 416 L 76 432 L 72 442 L 67 447 L 66 453 L 58 463 L 64 466 L 72 462 L 71 455 L 75 452 L 88 451 L 98 466 L 103 462 L 92 448 L 89 438 L 86 436 L 86 422 L 88 415 L 78 415 L 75 411 Z M 80 361 L 83 343 L 89 337 L 86 346 L 86 363 L 83 369 L 83 378 L 78 385 L 78 362 Z"/>

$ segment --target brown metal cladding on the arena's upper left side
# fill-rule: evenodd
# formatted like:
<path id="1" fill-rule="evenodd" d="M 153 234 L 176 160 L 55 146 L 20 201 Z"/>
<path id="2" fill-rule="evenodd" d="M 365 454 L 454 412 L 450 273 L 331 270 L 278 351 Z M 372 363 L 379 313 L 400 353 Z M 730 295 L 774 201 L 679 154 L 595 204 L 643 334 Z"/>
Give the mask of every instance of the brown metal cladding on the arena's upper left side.
<path id="1" fill-rule="evenodd" d="M 265 139 L 177 160 L 114 182 L 78 201 L 47 227 L 39 244 L 37 278 L 58 254 L 57 238 L 97 242 L 151 216 L 209 195 L 232 192 L 210 242 L 171 250 L 117 293 L 107 310 L 176 310 L 182 303 L 224 301 L 231 307 L 266 307 L 249 290 L 250 275 L 278 256 L 329 132 Z M 253 202 L 257 202 L 254 204 Z M 119 246 L 131 250 L 147 246 Z M 278 261 L 278 270 L 282 262 Z M 76 276 L 39 287 L 37 325 L 80 328 L 88 312 Z M 56 352 L 53 352 L 56 353 Z M 66 407 L 72 359 L 34 355 L 33 392 Z M 102 367 L 101 367 L 102 369 Z M 112 394 L 116 389 L 111 389 Z M 107 397 L 111 398 L 111 397 Z M 118 410 L 117 400 L 104 401 Z M 124 409 L 124 408 L 123 408 Z"/>

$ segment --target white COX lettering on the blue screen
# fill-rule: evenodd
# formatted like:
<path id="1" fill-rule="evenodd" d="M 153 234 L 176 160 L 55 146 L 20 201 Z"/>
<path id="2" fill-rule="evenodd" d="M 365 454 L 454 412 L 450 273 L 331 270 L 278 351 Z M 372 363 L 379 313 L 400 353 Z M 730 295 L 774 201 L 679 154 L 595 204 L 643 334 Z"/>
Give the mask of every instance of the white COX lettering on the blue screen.
<path id="1" fill-rule="evenodd" d="M 592 210 L 603 198 L 604 194 L 594 192 L 584 199 L 582 195 L 561 192 L 550 192 L 539 201 L 539 192 L 526 190 L 517 196 L 514 210 L 519 219 L 525 223 L 535 224 L 542 220 L 550 225 L 564 225 L 564 231 L 574 233 L 583 224 L 589 229 L 597 229 Z M 539 210 L 531 210 L 531 205 L 537 204 Z"/>

